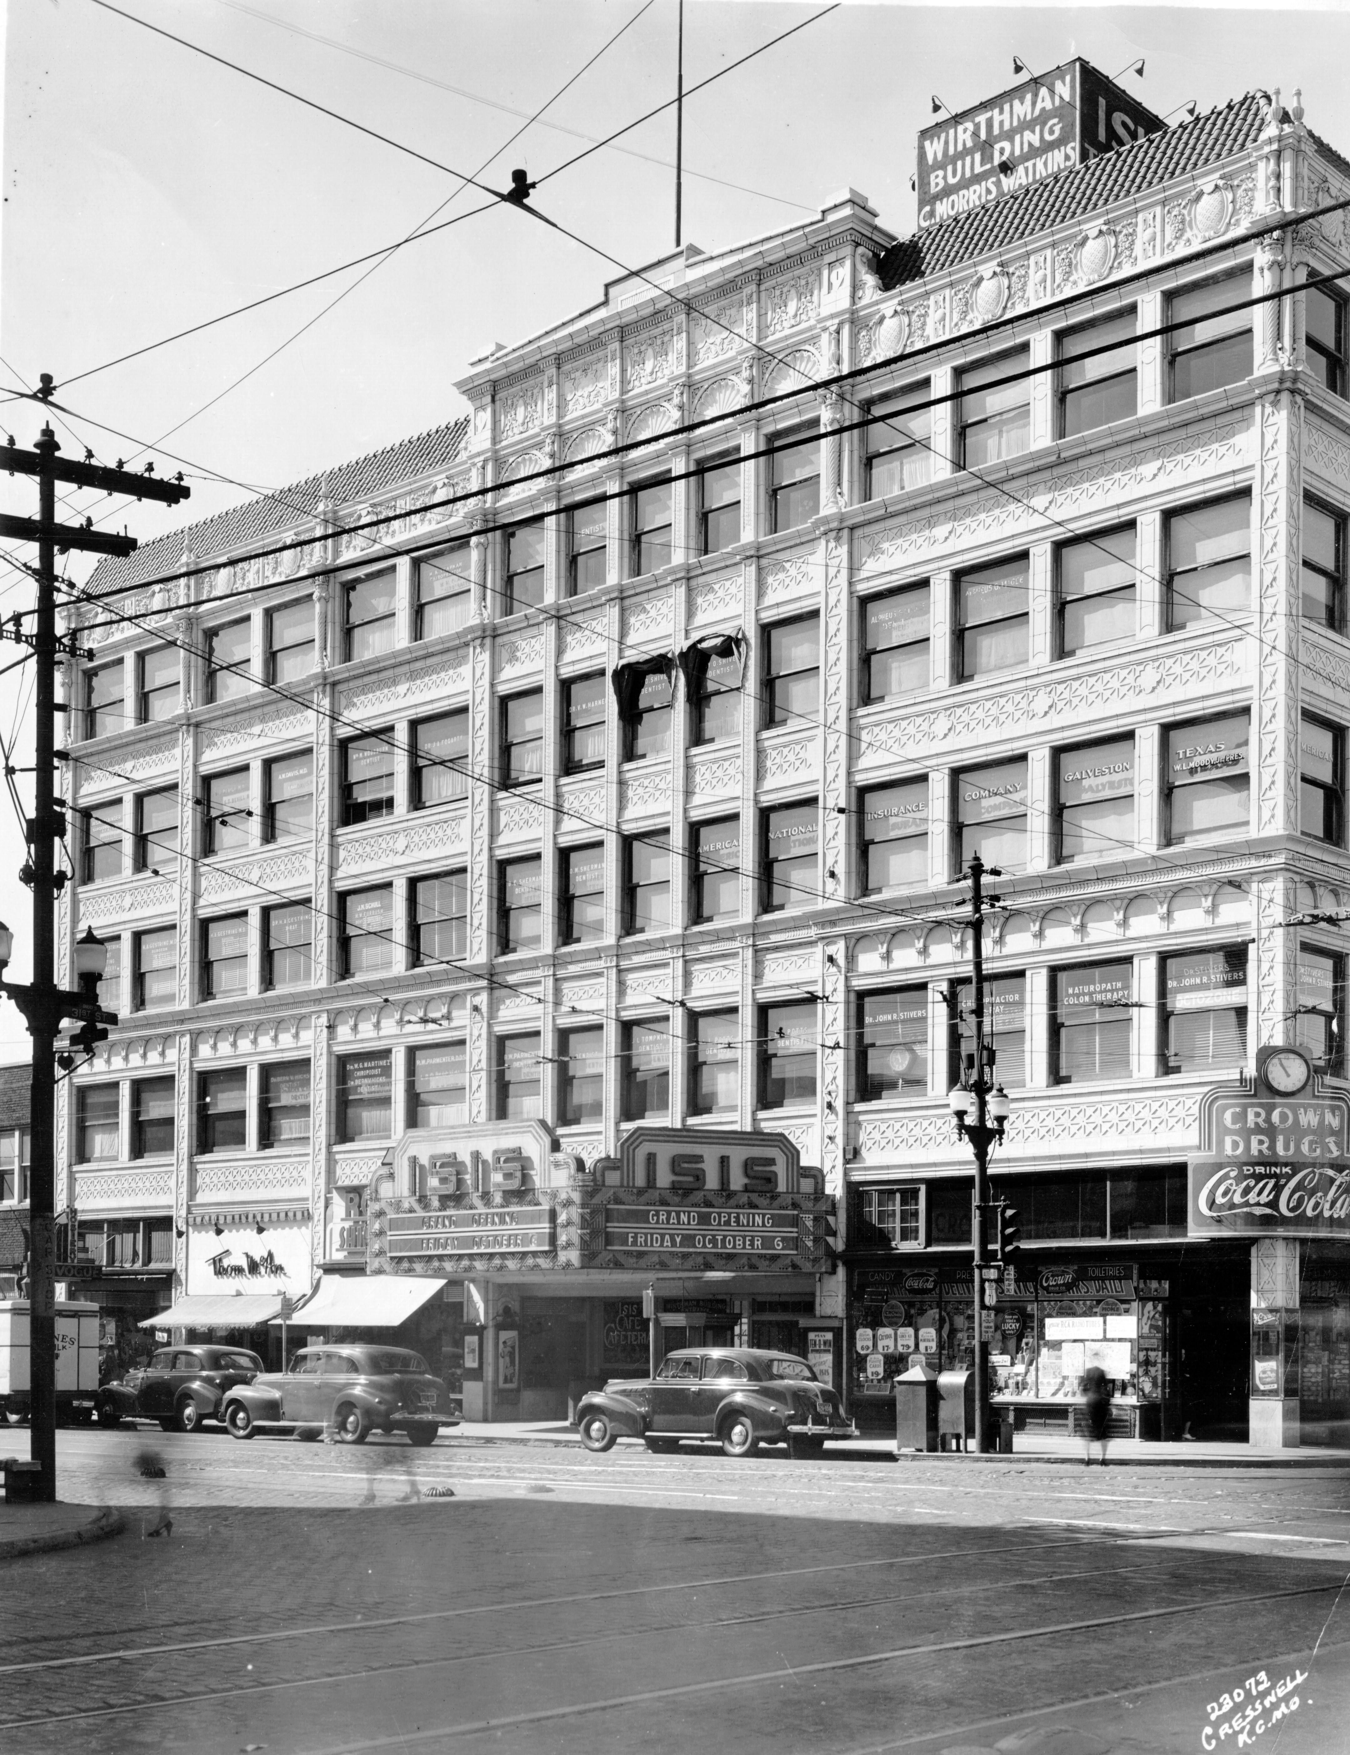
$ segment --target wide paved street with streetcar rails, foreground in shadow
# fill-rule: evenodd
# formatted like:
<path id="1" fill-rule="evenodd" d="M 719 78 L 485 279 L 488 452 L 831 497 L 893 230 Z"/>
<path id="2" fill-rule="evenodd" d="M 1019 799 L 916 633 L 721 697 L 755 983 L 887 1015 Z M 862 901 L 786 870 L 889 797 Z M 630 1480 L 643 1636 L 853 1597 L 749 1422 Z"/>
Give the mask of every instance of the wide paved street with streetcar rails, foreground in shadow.
<path id="1" fill-rule="evenodd" d="M 5 1755 L 1350 1755 L 1341 1469 L 153 1429 L 60 1464 L 128 1532 L 5 1565 Z"/>

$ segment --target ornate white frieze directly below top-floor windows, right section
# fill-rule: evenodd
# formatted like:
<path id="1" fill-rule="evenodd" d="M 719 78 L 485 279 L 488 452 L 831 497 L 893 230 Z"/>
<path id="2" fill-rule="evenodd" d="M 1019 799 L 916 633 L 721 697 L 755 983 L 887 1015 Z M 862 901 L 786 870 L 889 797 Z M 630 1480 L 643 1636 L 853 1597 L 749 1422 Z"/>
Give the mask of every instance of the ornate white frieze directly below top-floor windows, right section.
<path id="1" fill-rule="evenodd" d="M 918 518 L 887 519 L 858 530 L 853 537 L 855 577 L 874 577 L 936 556 L 948 563 L 964 548 L 995 539 L 1025 541 L 1050 519 L 1118 511 L 1141 493 L 1188 481 L 1199 486 L 1252 462 L 1250 416 L 1206 421 L 1174 439 L 1150 441 L 1146 448 L 1099 456 L 1060 476 L 1030 481 L 1018 498 L 992 493 L 980 500 L 944 500 Z"/>

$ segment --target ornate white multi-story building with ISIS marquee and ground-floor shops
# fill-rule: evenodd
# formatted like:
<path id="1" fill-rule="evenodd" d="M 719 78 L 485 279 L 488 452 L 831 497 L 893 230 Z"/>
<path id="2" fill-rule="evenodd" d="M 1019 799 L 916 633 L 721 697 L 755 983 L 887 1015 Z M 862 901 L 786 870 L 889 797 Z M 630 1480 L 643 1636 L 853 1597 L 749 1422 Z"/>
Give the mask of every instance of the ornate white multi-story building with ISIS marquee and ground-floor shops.
<path id="1" fill-rule="evenodd" d="M 690 1330 L 885 1409 L 971 1353 L 978 851 L 995 1399 L 1066 1427 L 1099 1360 L 1143 1436 L 1350 1416 L 1338 202 L 1260 95 L 906 240 L 850 190 L 100 567 L 81 1220 L 170 1225 L 179 1299 L 420 1306 L 470 1413 Z M 1260 1134 L 1283 1044 L 1320 1144 Z"/>

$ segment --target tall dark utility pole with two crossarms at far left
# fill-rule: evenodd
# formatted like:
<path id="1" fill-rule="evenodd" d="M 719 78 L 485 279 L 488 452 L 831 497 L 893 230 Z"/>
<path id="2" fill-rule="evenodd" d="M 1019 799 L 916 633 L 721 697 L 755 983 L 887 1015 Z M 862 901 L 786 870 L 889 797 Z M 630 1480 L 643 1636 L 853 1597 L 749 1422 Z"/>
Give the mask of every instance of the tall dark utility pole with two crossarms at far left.
<path id="1" fill-rule="evenodd" d="M 37 398 L 47 402 L 53 381 L 42 374 Z M 39 1464 L 35 1497 L 56 1499 L 56 1034 L 63 1020 L 77 1018 L 84 1032 L 75 1037 L 81 1048 L 93 1049 L 107 1032 L 100 1023 L 116 1023 L 114 1013 L 100 1011 L 97 1004 L 97 976 L 72 993 L 54 981 L 56 893 L 65 886 L 65 872 L 54 870 L 54 842 L 65 839 L 65 802 L 56 799 L 56 658 L 63 649 L 56 637 L 56 551 L 83 549 L 93 555 L 130 555 L 135 537 L 114 535 L 91 526 L 56 523 L 56 483 L 67 481 L 79 488 L 102 488 L 105 493 L 126 493 L 137 500 L 162 500 L 176 505 L 186 500 L 190 490 L 181 481 L 158 481 L 147 474 L 126 469 L 104 469 L 98 463 L 74 463 L 58 458 L 61 448 L 51 426 L 44 426 L 32 451 L 14 444 L 0 446 L 0 470 L 11 476 L 37 477 L 39 516 L 0 518 L 0 537 L 18 537 L 37 542 L 37 616 L 26 644 L 33 651 L 37 670 L 33 688 L 33 814 L 26 825 L 28 874 L 33 888 L 33 979 L 26 986 L 0 981 L 4 990 L 23 1011 L 28 1034 L 33 1039 L 33 1065 L 30 1083 L 32 1167 L 28 1172 L 28 1344 L 32 1360 L 32 1457 Z M 147 465 L 153 467 L 153 465 Z M 74 648 L 70 648 L 74 649 Z M 70 711 L 70 702 L 65 711 Z M 12 934 L 4 930 L 0 944 L 9 962 Z M 97 946 L 97 941 L 93 941 Z M 102 951 L 102 946 L 98 946 Z"/>

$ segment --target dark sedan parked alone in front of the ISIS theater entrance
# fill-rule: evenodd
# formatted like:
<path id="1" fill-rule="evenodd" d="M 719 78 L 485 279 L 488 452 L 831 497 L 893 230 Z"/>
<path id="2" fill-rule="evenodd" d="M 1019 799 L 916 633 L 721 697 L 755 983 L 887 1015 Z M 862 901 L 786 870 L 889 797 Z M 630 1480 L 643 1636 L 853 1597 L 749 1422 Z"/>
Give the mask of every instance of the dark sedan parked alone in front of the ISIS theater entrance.
<path id="1" fill-rule="evenodd" d="M 760 1444 L 818 1457 L 827 1437 L 858 1436 L 804 1358 L 732 1346 L 681 1348 L 655 1378 L 606 1383 L 581 1397 L 576 1423 L 586 1450 L 641 1437 L 669 1451 L 683 1437 L 713 1437 L 729 1457 L 753 1457 Z"/>

